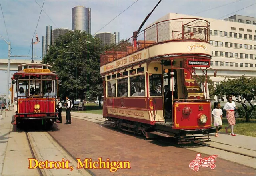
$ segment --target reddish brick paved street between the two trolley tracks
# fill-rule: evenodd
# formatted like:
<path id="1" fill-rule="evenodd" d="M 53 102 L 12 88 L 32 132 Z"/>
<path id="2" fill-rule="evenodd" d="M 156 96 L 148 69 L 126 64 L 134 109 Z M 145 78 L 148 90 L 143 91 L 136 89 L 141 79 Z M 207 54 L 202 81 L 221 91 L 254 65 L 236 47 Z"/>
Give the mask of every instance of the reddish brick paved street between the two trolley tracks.
<path id="1" fill-rule="evenodd" d="M 198 172 L 189 168 L 197 153 L 185 148 L 177 148 L 161 140 L 146 140 L 126 132 L 118 132 L 101 127 L 96 123 L 72 118 L 71 125 L 58 124 L 59 131 L 50 134 L 75 158 L 98 157 L 106 161 L 130 161 L 131 169 L 119 169 L 111 173 L 109 169 L 91 169 L 96 176 L 254 176 L 255 170 L 216 159 L 216 168 L 200 167 Z M 214 153 L 212 153 L 214 154 Z M 201 157 L 208 157 L 201 154 Z"/>

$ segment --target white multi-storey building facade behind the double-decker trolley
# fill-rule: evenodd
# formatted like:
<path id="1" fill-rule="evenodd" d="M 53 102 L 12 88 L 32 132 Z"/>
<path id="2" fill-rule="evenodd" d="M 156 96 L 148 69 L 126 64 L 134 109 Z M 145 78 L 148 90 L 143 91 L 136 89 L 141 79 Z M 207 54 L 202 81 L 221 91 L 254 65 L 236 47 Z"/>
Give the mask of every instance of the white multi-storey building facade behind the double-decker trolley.
<path id="1" fill-rule="evenodd" d="M 175 18 L 200 18 L 210 22 L 210 43 L 212 45 L 212 59 L 210 67 L 218 71 L 214 77 L 214 71 L 208 70 L 207 75 L 214 82 L 214 87 L 225 79 L 233 79 L 245 75 L 246 77 L 256 76 L 256 30 L 255 18 L 236 15 L 232 19 L 216 20 L 198 16 L 169 13 L 156 22 Z M 248 20 L 246 20 L 248 19 Z M 249 23 L 250 21 L 250 23 Z M 155 22 L 154 22 L 155 23 Z M 152 24 L 154 24 L 152 23 Z M 166 28 L 172 34 L 171 28 Z M 193 28 L 185 28 L 186 32 L 193 32 Z M 154 37 L 153 37 L 154 38 Z M 150 40 L 148 38 L 147 40 Z M 202 71 L 198 71 L 198 74 Z M 210 97 L 212 98 L 212 97 Z M 222 96 L 213 97 L 215 100 L 222 99 Z M 223 97 L 226 101 L 226 97 Z"/>

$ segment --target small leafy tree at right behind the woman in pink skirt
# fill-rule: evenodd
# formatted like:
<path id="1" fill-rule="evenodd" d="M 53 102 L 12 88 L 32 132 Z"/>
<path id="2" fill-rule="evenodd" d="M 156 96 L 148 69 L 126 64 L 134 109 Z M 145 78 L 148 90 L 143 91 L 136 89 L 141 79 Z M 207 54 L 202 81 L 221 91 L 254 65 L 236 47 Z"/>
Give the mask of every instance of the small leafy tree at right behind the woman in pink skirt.
<path id="1" fill-rule="evenodd" d="M 246 78 L 244 75 L 235 79 L 227 79 L 220 81 L 220 85 L 216 86 L 215 95 L 232 95 L 236 98 L 235 102 L 241 103 L 246 113 L 246 122 L 250 121 L 250 114 L 255 109 L 256 105 L 252 105 L 251 101 L 255 100 L 256 94 L 256 78 Z M 241 100 L 238 97 L 242 97 Z M 242 102 L 244 101 L 244 102 Z M 249 110 L 246 101 L 250 104 Z"/>

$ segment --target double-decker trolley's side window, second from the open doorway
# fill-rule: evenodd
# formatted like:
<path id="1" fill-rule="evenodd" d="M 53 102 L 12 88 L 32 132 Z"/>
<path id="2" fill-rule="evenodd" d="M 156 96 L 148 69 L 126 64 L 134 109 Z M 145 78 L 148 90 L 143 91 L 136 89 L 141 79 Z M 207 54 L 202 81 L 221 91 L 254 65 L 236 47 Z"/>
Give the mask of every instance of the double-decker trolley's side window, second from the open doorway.
<path id="1" fill-rule="evenodd" d="M 145 75 L 130 77 L 130 96 L 145 97 Z"/>

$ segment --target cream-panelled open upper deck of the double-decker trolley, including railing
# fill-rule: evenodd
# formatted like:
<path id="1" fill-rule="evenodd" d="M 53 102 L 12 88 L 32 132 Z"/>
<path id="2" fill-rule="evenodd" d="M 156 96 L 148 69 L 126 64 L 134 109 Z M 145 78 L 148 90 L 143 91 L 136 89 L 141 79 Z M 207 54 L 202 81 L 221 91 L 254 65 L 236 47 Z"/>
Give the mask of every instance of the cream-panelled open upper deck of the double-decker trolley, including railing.
<path id="1" fill-rule="evenodd" d="M 210 23 L 199 18 L 177 18 L 156 22 L 100 56 L 100 73 L 125 69 L 134 64 L 164 57 L 206 59 L 210 67 Z"/>

